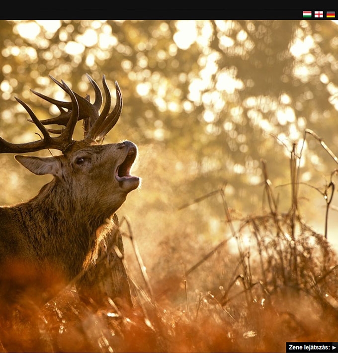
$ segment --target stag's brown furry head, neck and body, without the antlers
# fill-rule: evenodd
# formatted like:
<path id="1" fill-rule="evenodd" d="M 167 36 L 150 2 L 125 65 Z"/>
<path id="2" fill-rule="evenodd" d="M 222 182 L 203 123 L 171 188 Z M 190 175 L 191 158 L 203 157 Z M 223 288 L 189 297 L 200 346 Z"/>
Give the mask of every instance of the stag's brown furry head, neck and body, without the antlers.
<path id="1" fill-rule="evenodd" d="M 45 302 L 88 266 L 96 230 L 139 185 L 129 169 L 127 178 L 116 177 L 128 155 L 130 168 L 136 146 L 129 141 L 77 141 L 60 156 L 16 156 L 54 179 L 30 201 L 0 208 L 0 303 L 14 303 L 20 293 Z"/>

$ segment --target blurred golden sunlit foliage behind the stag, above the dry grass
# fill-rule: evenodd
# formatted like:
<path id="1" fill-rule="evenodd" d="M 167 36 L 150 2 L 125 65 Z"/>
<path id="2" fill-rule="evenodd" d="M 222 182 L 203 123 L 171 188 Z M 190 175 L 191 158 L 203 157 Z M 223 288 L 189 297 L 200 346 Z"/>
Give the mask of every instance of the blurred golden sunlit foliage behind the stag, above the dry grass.
<path id="1" fill-rule="evenodd" d="M 338 154 L 334 21 L 1 20 L 0 44 L 0 134 L 11 142 L 39 138 L 14 96 L 41 119 L 58 110 L 30 89 L 67 99 L 48 75 L 91 96 L 86 73 L 99 85 L 106 75 L 113 96 L 118 81 L 124 109 L 105 141 L 139 147 L 133 173 L 142 188 L 118 214 L 130 219 L 148 266 L 184 271 L 229 233 L 220 195 L 207 197 L 220 187 L 234 219 L 262 212 L 262 159 L 287 211 L 293 144 L 300 212 L 323 233 L 322 194 L 338 166 L 318 140 L 303 138 L 310 128 Z M 1 204 L 33 197 L 50 179 L 11 155 L 1 163 Z M 336 246 L 337 218 L 333 209 Z M 168 251 L 178 255 L 174 266 Z"/>

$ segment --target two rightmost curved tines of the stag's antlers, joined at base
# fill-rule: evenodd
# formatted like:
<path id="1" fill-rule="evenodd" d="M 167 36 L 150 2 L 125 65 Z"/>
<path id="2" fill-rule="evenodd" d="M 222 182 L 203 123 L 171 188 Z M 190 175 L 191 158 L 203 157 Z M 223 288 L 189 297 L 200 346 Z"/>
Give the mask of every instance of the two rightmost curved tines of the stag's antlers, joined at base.
<path id="1" fill-rule="evenodd" d="M 115 126 L 118 121 L 121 112 L 122 112 L 122 93 L 120 87 L 117 82 L 115 82 L 116 88 L 116 105 L 113 111 L 108 115 L 110 104 L 111 104 L 111 96 L 110 91 L 107 86 L 105 77 L 102 79 L 103 89 L 106 95 L 106 101 L 104 104 L 104 108 L 99 118 L 96 120 L 92 128 L 89 130 L 86 139 L 92 139 L 95 141 L 102 141 L 105 135 Z"/>

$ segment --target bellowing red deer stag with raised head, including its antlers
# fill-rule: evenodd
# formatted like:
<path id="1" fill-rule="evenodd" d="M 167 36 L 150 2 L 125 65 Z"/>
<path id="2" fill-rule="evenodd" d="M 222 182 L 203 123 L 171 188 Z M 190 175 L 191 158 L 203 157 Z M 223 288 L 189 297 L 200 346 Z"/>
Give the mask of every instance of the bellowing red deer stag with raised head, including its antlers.
<path id="1" fill-rule="evenodd" d="M 28 202 L 0 207 L 1 306 L 15 305 L 22 296 L 43 304 L 84 271 L 97 250 L 96 231 L 139 185 L 139 178 L 130 175 L 136 146 L 130 141 L 101 145 L 122 111 L 118 84 L 116 105 L 109 113 L 111 96 L 103 77 L 105 103 L 99 114 L 102 93 L 87 78 L 95 92 L 93 103 L 52 77 L 68 93 L 70 102 L 33 91 L 58 106 L 60 115 L 48 120 L 40 121 L 26 103 L 17 99 L 40 130 L 40 140 L 12 144 L 0 138 L 0 153 L 62 151 L 61 155 L 44 158 L 15 156 L 34 174 L 51 174 L 54 179 Z M 84 139 L 75 141 L 74 129 L 82 119 Z M 51 124 L 65 127 L 61 131 L 45 127 Z"/>

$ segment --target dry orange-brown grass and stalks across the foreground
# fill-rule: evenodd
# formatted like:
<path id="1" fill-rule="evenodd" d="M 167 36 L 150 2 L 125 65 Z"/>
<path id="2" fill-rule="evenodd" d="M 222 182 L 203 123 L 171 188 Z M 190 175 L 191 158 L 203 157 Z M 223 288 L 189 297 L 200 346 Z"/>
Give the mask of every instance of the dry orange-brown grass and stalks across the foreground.
<path id="1" fill-rule="evenodd" d="M 107 299 L 104 306 L 91 310 L 80 301 L 75 289 L 66 289 L 35 311 L 29 324 L 13 325 L 13 331 L 8 332 L 13 335 L 11 349 L 285 352 L 286 341 L 336 341 L 338 260 L 326 237 L 301 219 L 298 160 L 293 150 L 292 199 L 286 213 L 278 211 L 264 162 L 268 206 L 264 213 L 235 221 L 223 188 L 193 201 L 199 203 L 219 193 L 230 236 L 183 275 L 162 271 L 152 285 L 127 222 L 126 236 L 142 272 L 137 282 L 132 277 L 134 272 L 128 271 L 134 308 Z M 179 236 L 175 238 L 179 243 Z M 236 241 L 238 248 L 231 258 L 227 249 L 230 240 Z M 200 285 L 208 288 L 197 291 L 196 280 L 204 280 Z"/>

